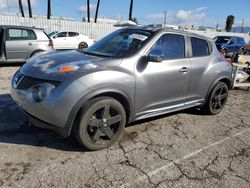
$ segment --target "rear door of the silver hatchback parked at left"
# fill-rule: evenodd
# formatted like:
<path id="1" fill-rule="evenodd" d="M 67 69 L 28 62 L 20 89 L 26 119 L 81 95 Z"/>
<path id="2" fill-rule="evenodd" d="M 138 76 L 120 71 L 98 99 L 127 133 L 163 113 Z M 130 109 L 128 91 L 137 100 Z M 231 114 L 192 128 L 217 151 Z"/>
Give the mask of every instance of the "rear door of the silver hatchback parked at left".
<path id="1" fill-rule="evenodd" d="M 31 29 L 9 28 L 5 33 L 7 60 L 26 60 L 30 57 L 36 34 Z"/>

